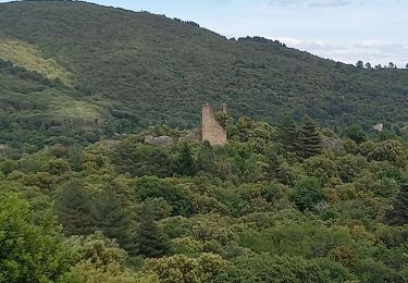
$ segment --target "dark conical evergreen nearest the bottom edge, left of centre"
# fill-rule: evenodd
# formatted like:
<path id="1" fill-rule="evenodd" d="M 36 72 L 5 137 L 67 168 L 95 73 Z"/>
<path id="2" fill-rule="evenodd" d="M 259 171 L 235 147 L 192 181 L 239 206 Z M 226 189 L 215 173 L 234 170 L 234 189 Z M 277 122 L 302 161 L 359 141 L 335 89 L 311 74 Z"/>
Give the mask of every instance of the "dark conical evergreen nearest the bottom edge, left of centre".
<path id="1" fill-rule="evenodd" d="M 151 208 L 146 207 L 136 233 L 137 251 L 140 256 L 158 258 L 171 251 L 171 244 L 162 227 L 154 221 Z"/>

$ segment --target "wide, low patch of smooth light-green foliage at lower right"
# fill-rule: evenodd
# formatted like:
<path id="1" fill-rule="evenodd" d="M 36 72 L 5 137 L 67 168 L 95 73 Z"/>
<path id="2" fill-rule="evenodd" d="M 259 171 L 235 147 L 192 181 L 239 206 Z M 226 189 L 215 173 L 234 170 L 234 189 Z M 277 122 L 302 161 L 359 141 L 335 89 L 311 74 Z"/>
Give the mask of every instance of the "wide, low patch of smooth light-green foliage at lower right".
<path id="1" fill-rule="evenodd" d="M 239 243 L 254 251 L 271 255 L 292 255 L 305 258 L 332 257 L 346 267 L 357 255 L 374 249 L 374 241 L 362 230 L 329 226 L 319 222 L 283 223 L 260 232 L 247 232 Z M 345 254 L 350 258 L 344 260 Z"/>

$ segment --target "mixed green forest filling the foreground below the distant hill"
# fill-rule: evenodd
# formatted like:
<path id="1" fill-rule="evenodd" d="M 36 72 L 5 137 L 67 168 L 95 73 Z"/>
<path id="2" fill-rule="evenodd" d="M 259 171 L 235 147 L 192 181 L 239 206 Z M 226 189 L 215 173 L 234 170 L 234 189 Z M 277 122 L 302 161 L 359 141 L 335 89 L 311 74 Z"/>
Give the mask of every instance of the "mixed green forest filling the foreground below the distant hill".
<path id="1" fill-rule="evenodd" d="M 408 281 L 408 145 L 395 133 L 240 118 L 224 147 L 183 135 L 1 161 L 0 281 Z"/>

